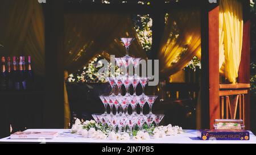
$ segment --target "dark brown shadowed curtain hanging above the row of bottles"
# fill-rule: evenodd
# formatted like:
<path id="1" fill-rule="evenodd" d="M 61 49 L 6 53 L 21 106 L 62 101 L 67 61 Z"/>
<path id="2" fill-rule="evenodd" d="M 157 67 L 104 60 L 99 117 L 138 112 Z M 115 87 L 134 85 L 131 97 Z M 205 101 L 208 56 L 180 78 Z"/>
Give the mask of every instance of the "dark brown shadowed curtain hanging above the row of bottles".
<path id="1" fill-rule="evenodd" d="M 3 56 L 31 55 L 35 74 L 44 74 L 44 17 L 34 0 L 5 0 L 0 5 Z M 4 24 L 3 24 L 4 23 Z"/>

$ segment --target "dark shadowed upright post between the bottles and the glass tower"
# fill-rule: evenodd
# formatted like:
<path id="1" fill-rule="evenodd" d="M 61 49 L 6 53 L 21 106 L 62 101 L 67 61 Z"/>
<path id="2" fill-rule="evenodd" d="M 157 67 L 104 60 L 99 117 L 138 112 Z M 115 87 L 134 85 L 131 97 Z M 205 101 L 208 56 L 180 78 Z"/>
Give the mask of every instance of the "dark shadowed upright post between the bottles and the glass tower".
<path id="1" fill-rule="evenodd" d="M 44 4 L 46 40 L 46 100 L 44 127 L 64 127 L 64 5 L 62 0 Z"/>

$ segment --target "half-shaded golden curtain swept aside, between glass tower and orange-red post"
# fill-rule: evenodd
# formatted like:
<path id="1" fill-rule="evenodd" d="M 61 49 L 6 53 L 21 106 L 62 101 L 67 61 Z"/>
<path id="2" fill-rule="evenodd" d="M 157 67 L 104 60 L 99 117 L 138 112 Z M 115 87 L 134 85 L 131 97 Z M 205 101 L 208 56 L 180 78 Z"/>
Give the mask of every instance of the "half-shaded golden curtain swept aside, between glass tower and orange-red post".
<path id="1" fill-rule="evenodd" d="M 201 19 L 199 10 L 170 12 L 161 41 L 160 77 L 164 78 L 185 68 L 201 52 Z"/>

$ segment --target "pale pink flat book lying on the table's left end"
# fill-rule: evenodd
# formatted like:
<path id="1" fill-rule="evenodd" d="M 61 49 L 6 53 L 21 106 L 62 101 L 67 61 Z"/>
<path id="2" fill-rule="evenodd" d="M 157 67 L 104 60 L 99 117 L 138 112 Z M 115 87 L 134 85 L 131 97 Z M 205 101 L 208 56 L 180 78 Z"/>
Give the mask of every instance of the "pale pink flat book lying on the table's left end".
<path id="1" fill-rule="evenodd" d="M 10 139 L 54 139 L 58 132 L 15 132 Z"/>

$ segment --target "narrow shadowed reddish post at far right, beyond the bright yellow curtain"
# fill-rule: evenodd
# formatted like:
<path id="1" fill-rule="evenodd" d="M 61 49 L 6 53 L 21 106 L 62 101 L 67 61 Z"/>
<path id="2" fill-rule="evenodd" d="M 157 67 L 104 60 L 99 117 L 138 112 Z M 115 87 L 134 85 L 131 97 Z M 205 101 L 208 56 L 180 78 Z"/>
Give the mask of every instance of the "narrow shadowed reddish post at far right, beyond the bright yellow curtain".
<path id="1" fill-rule="evenodd" d="M 250 83 L 250 4 L 249 1 L 243 3 L 243 44 L 241 62 L 238 71 L 239 83 Z M 245 102 L 245 124 L 246 129 L 250 129 L 250 89 L 244 97 Z"/>

